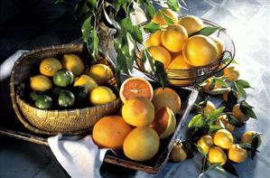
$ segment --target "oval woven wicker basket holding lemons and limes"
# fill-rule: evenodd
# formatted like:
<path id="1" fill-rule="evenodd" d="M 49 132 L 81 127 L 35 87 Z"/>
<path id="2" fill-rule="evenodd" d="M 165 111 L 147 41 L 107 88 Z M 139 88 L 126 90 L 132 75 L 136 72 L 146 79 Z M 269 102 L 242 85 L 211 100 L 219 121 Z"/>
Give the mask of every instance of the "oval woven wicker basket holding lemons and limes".
<path id="1" fill-rule="evenodd" d="M 56 57 L 61 59 L 64 53 L 77 54 L 81 59 L 84 59 L 86 65 L 89 65 L 87 63 L 87 61 L 90 61 L 88 59 L 88 52 L 80 44 L 51 46 L 33 52 L 27 52 L 14 63 L 10 80 L 13 108 L 19 120 L 23 123 L 23 126 L 35 133 L 45 135 L 55 135 L 58 133 L 76 135 L 88 132 L 100 117 L 113 115 L 121 107 L 119 98 L 105 105 L 66 110 L 39 109 L 27 103 L 23 99 L 21 91 L 24 89 L 23 85 L 29 80 L 34 66 L 44 58 Z M 116 71 L 113 63 L 103 52 L 99 52 L 97 63 L 106 64 L 115 74 Z M 115 77 L 109 80 L 109 84 L 117 91 Z"/>

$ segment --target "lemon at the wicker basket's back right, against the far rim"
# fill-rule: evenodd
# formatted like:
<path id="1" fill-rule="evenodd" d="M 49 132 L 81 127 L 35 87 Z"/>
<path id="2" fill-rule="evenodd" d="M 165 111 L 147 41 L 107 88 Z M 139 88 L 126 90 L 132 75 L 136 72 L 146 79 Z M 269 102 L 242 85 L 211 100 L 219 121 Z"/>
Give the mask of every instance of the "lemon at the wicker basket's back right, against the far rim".
<path id="1" fill-rule="evenodd" d="M 105 64 L 95 64 L 91 66 L 89 76 L 102 85 L 113 77 L 113 72 Z"/>

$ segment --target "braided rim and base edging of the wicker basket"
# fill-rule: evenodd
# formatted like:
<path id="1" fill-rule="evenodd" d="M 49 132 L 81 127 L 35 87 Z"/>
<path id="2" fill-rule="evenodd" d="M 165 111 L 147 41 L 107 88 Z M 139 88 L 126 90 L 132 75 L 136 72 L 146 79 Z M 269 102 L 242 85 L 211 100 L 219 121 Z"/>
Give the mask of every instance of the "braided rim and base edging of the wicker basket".
<path id="1" fill-rule="evenodd" d="M 35 126 L 33 126 L 27 119 L 25 119 L 23 117 L 23 114 L 22 114 L 22 111 L 19 109 L 19 106 L 18 106 L 18 103 L 17 103 L 17 97 L 19 97 L 21 99 L 21 101 L 23 102 L 23 104 L 27 105 L 28 107 L 30 108 L 34 108 L 38 111 L 42 111 L 42 112 L 63 112 L 63 113 L 66 113 L 66 112 L 74 112 L 74 111 L 78 111 L 80 109 L 90 109 L 90 108 L 103 108 L 104 106 L 107 106 L 107 105 L 112 105 L 116 102 L 121 102 L 120 98 L 116 98 L 115 100 L 109 102 L 109 103 L 106 103 L 106 104 L 103 104 L 103 105 L 98 105 L 98 106 L 92 106 L 92 107 L 86 107 L 86 108 L 71 108 L 71 109 L 61 109 L 61 110 L 58 110 L 58 109 L 54 109 L 54 110 L 48 110 L 48 109 L 40 109 L 40 108 L 35 108 L 33 107 L 32 105 L 30 105 L 28 102 L 25 102 L 18 94 L 15 93 L 15 87 L 14 87 L 14 75 L 15 75 L 15 68 L 17 67 L 17 65 L 20 64 L 20 61 L 23 61 L 23 59 L 26 57 L 26 56 L 29 56 L 29 55 L 33 55 L 35 53 L 39 53 L 39 52 L 45 52 L 45 51 L 53 51 L 53 50 L 61 50 L 61 49 L 72 49 L 72 48 L 79 48 L 79 49 L 83 49 L 83 44 L 74 44 L 74 43 L 70 43 L 70 44 L 61 44 L 61 45 L 51 45 L 51 46 L 46 46 L 46 47 L 42 47 L 42 48 L 38 48 L 38 49 L 34 49 L 32 51 L 29 51 L 29 52 L 25 52 L 23 53 L 15 62 L 14 62 L 14 66 L 13 66 L 13 69 L 12 69 L 12 72 L 11 72 L 11 76 L 10 76 L 10 81 L 9 81 L 9 85 L 10 85 L 10 98 L 12 100 L 12 105 L 13 105 L 13 108 L 14 108 L 14 112 L 16 114 L 16 117 L 21 121 L 21 123 L 23 123 L 23 126 L 27 129 L 29 129 L 30 131 L 34 132 L 34 133 L 37 133 L 37 134 L 42 134 L 42 135 L 57 135 L 61 132 L 54 132 L 54 131 L 46 131 L 46 130 L 42 130 L 40 128 L 37 128 Z M 113 72 L 115 72 L 115 64 L 113 63 L 113 61 L 111 61 L 110 57 L 105 53 L 105 52 L 102 52 L 101 50 L 99 50 L 99 52 L 104 55 L 106 58 L 107 58 L 107 61 L 110 63 L 110 65 L 112 65 L 112 67 L 114 69 Z M 117 89 L 117 88 L 116 88 Z M 76 130 L 76 131 L 65 131 L 63 132 L 62 134 L 63 135 L 79 135 L 79 134 L 83 134 L 83 133 L 86 133 L 88 132 L 90 129 L 80 129 L 80 130 Z"/>

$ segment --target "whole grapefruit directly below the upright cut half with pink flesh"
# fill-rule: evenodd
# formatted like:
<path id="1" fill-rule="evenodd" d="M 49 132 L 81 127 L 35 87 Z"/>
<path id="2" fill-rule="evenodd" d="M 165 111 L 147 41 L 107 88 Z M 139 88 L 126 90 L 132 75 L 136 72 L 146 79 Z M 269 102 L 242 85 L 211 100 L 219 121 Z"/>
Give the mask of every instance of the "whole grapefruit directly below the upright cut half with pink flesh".
<path id="1" fill-rule="evenodd" d="M 147 98 L 130 98 L 122 108 L 122 116 L 127 124 L 146 126 L 154 121 L 154 106 Z"/>

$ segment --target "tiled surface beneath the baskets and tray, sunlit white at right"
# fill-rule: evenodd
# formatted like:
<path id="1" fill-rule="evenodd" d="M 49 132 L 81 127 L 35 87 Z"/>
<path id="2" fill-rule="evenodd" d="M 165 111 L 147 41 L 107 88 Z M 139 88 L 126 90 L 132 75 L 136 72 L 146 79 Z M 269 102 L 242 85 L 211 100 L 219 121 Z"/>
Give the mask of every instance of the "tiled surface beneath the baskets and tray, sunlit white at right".
<path id="1" fill-rule="evenodd" d="M 30 50 L 40 46 L 69 43 L 79 38 L 81 22 L 72 19 L 74 3 L 53 5 L 54 1 L 33 0 L 32 5 L 20 1 L 0 2 L 0 127 L 12 126 L 16 120 L 8 91 L 8 74 L 12 62 L 5 61 L 17 50 Z M 227 29 L 236 44 L 235 60 L 240 63 L 240 78 L 250 81 L 255 89 L 247 90 L 247 101 L 255 106 L 258 120 L 250 119 L 247 125 L 237 128 L 235 136 L 246 130 L 263 133 L 261 152 L 252 161 L 237 164 L 240 177 L 269 177 L 270 166 L 270 63 L 269 63 L 269 0 L 186 0 L 187 10 L 181 14 L 195 14 Z M 27 19 L 27 20 L 25 20 Z M 219 105 L 219 100 L 215 99 Z M 42 145 L 0 136 L 0 177 L 69 177 L 58 164 L 50 148 Z M 200 155 L 180 164 L 167 163 L 160 173 L 136 172 L 112 164 L 103 164 L 104 177 L 197 177 L 200 174 Z M 204 177 L 231 177 L 211 171 Z"/>

